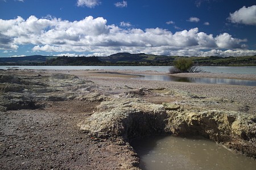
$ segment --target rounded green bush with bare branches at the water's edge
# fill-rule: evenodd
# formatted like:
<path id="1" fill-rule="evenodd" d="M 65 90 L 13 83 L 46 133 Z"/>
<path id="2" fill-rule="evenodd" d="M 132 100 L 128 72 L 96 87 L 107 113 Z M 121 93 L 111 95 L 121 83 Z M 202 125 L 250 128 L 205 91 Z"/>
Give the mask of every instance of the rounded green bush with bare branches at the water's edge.
<path id="1" fill-rule="evenodd" d="M 174 67 L 169 70 L 170 74 L 175 73 L 199 73 L 203 71 L 190 58 L 178 58 L 174 61 Z"/>

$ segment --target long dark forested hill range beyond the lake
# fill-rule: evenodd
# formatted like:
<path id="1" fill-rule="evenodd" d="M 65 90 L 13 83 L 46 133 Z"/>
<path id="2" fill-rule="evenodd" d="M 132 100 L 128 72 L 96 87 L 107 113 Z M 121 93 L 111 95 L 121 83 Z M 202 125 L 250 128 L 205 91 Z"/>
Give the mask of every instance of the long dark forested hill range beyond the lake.
<path id="1" fill-rule="evenodd" d="M 171 66 L 180 56 L 117 53 L 106 57 L 26 56 L 0 57 L 0 65 L 72 65 L 72 66 Z M 190 57 L 199 66 L 256 66 L 255 56 Z"/>

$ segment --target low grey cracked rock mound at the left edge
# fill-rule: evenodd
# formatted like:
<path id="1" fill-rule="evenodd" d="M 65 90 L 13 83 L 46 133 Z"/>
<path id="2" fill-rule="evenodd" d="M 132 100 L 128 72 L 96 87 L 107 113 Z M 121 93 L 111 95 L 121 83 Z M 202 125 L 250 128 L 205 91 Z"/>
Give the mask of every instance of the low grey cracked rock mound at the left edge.
<path id="1" fill-rule="evenodd" d="M 48 101 L 105 99 L 93 82 L 69 74 L 0 74 L 0 83 L 0 111 L 36 109 L 44 107 Z"/>

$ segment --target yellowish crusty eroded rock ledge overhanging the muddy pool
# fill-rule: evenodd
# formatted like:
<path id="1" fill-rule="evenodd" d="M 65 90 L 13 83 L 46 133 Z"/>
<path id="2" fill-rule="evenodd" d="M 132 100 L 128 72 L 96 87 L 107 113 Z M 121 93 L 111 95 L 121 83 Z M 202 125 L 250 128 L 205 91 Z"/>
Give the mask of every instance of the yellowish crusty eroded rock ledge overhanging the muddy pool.
<path id="1" fill-rule="evenodd" d="M 122 137 L 125 141 L 149 134 L 200 135 L 247 156 L 256 156 L 256 124 L 253 115 L 185 105 L 152 104 L 138 98 L 104 101 L 97 112 L 79 126 L 98 138 Z M 192 110 L 192 111 L 191 111 Z"/>

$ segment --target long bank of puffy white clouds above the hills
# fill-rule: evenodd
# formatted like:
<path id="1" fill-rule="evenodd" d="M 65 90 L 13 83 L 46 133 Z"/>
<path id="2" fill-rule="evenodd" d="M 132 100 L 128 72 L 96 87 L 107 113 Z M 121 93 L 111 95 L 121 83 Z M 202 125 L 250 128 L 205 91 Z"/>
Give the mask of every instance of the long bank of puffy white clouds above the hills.
<path id="1" fill-rule="evenodd" d="M 121 26 L 129 24 L 122 22 Z M 162 28 L 126 27 L 108 25 L 106 19 L 93 16 L 73 22 L 51 16 L 0 19 L 0 49 L 17 50 L 19 46 L 32 45 L 32 50 L 39 52 L 90 53 L 95 56 L 117 52 L 165 55 L 176 52 L 175 55 L 202 56 L 207 51 L 224 49 L 246 52 L 244 42 L 247 40 L 234 38 L 229 33 L 214 37 L 198 28 L 172 33 Z"/>

